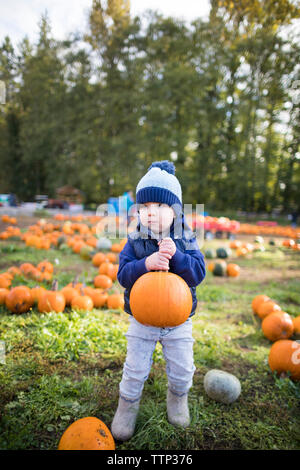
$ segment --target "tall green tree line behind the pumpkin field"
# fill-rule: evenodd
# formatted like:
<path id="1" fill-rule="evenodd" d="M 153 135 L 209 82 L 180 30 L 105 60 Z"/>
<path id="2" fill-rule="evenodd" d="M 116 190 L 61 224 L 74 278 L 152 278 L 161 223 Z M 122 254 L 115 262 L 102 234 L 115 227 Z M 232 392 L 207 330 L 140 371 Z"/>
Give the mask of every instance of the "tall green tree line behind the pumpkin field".
<path id="1" fill-rule="evenodd" d="M 292 0 L 211 0 L 187 23 L 92 0 L 86 31 L 0 44 L 0 187 L 105 202 L 171 159 L 186 203 L 300 210 L 299 26 Z"/>

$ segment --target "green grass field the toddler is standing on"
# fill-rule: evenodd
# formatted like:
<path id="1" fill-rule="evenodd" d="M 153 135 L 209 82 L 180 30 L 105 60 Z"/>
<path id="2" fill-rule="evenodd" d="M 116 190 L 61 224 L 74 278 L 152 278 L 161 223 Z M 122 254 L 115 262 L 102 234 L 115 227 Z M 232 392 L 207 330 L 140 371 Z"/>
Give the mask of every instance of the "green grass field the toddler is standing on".
<path id="1" fill-rule="evenodd" d="M 227 244 L 206 242 L 202 250 Z M 47 258 L 63 287 L 79 274 L 92 282 L 96 268 L 71 252 L 47 252 L 18 242 L 0 243 L 0 272 L 12 265 Z M 234 258 L 232 258 L 234 259 Z M 264 293 L 292 316 L 300 314 L 300 253 L 269 247 L 235 260 L 237 278 L 211 272 L 197 288 L 193 317 L 196 372 L 189 394 L 191 425 L 167 421 L 167 379 L 161 345 L 145 384 L 135 435 L 117 450 L 137 449 L 300 449 L 300 384 L 278 378 L 268 366 L 271 342 L 251 310 Z M 15 279 L 15 283 L 33 281 Z M 56 449 L 74 420 L 97 416 L 109 427 L 118 403 L 126 355 L 128 315 L 122 311 L 13 315 L 0 306 L 0 448 Z M 242 393 L 231 405 L 210 399 L 203 378 L 213 368 L 235 374 Z"/>

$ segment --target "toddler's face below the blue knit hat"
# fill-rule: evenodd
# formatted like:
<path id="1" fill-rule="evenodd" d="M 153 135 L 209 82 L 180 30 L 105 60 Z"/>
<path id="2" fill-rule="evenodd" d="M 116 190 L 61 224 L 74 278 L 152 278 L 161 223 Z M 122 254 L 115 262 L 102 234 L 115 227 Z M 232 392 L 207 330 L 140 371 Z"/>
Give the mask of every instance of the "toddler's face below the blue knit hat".
<path id="1" fill-rule="evenodd" d="M 142 204 L 139 212 L 141 223 L 154 233 L 166 231 L 172 225 L 175 215 L 172 207 L 158 202 Z"/>

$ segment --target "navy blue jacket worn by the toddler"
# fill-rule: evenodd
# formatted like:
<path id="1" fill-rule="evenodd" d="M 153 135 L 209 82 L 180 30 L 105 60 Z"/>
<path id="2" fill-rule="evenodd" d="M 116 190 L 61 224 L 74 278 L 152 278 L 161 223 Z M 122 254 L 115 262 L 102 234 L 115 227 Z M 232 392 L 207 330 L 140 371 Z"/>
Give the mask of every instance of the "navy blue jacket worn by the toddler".
<path id="1" fill-rule="evenodd" d="M 170 237 L 176 244 L 176 252 L 169 260 L 169 272 L 181 276 L 190 287 L 193 299 L 191 317 L 194 315 L 197 306 L 196 286 L 205 278 L 205 261 L 199 250 L 197 240 L 186 224 L 183 214 L 180 223 L 182 223 L 181 238 L 174 236 L 174 222 L 170 228 Z M 137 230 L 129 234 L 126 245 L 119 255 L 117 278 L 121 286 L 125 287 L 124 310 L 130 315 L 132 315 L 129 305 L 131 288 L 140 276 L 148 272 L 145 260 L 158 249 L 158 240 L 153 239 L 153 234 L 149 230 L 148 235 L 145 237 L 145 230 L 139 222 Z"/>

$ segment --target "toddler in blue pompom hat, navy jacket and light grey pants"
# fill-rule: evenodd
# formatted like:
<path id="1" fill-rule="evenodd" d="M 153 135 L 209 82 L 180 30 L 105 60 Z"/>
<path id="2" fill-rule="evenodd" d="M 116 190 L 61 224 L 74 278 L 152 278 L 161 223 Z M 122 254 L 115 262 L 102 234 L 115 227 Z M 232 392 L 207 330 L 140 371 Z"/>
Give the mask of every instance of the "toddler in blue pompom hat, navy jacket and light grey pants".
<path id="1" fill-rule="evenodd" d="M 164 160 L 150 166 L 137 185 L 136 203 L 137 228 L 129 234 L 120 253 L 118 270 L 118 281 L 125 287 L 124 309 L 130 314 L 119 403 L 111 425 L 113 436 L 122 441 L 134 433 L 142 390 L 157 341 L 162 345 L 166 360 L 168 420 L 173 425 L 189 425 L 187 397 L 195 371 L 191 316 L 197 305 L 196 286 L 205 277 L 204 257 L 185 222 L 181 186 L 172 162 Z M 155 270 L 175 273 L 190 287 L 192 309 L 189 318 L 179 326 L 145 326 L 132 316 L 130 290 L 140 276 Z"/>

